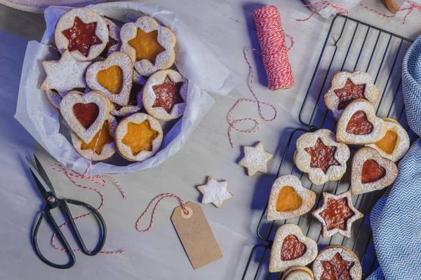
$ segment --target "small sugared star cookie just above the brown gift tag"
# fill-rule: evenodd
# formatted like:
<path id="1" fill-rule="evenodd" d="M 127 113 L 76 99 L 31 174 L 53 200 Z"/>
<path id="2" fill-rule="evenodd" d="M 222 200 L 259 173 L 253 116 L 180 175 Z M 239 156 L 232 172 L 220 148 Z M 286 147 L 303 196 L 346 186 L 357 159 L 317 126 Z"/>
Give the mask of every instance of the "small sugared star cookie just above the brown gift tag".
<path id="1" fill-rule="evenodd" d="M 222 202 L 231 198 L 233 195 L 227 190 L 227 181 L 216 181 L 212 177 L 208 178 L 208 183 L 197 187 L 203 194 L 202 203 L 213 203 L 216 207 L 222 207 Z"/>

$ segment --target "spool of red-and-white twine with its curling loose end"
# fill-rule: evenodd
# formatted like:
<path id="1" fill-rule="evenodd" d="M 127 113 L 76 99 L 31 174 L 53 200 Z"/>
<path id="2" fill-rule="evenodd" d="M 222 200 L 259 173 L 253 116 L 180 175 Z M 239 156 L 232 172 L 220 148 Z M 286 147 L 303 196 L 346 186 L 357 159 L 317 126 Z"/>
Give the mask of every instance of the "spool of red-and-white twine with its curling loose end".
<path id="1" fill-rule="evenodd" d="M 258 40 L 260 44 L 260 51 L 255 48 L 248 48 L 244 52 L 244 57 L 248 67 L 250 68 L 250 80 L 249 87 L 250 92 L 253 94 L 253 99 L 239 99 L 239 101 L 234 104 L 232 109 L 229 111 L 228 115 L 228 138 L 229 144 L 234 148 L 234 143 L 232 142 L 232 129 L 244 133 L 255 133 L 259 129 L 258 120 L 255 118 L 241 118 L 239 120 L 232 121 L 232 115 L 236 106 L 241 104 L 241 102 L 252 102 L 257 103 L 259 108 L 260 118 L 265 120 L 265 122 L 272 122 L 276 119 L 277 111 L 272 104 L 266 102 L 260 102 L 253 90 L 253 67 L 248 62 L 247 53 L 249 50 L 260 53 L 263 59 L 263 65 L 265 66 L 265 71 L 267 74 L 267 87 L 269 90 L 283 90 L 294 85 L 293 71 L 291 69 L 290 62 L 288 60 L 288 50 L 292 48 L 294 39 L 291 36 L 286 35 L 283 32 L 281 24 L 281 15 L 279 15 L 279 10 L 276 6 L 265 6 L 255 10 L 253 12 L 253 19 L 255 20 L 256 28 L 258 31 Z M 286 36 L 291 39 L 292 43 L 290 48 L 286 47 Z M 273 118 L 265 118 L 262 114 L 262 105 L 271 107 L 274 110 Z M 236 127 L 237 124 L 244 121 L 253 121 L 255 123 L 255 128 L 253 130 L 241 130 Z"/>

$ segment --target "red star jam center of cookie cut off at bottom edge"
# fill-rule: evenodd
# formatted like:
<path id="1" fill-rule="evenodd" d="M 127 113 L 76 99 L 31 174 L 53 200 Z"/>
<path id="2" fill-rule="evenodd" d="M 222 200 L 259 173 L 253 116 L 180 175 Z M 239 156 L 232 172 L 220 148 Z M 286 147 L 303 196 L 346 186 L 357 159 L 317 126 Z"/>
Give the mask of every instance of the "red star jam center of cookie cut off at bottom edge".
<path id="1" fill-rule="evenodd" d="M 323 267 L 323 274 L 321 280 L 353 280 L 349 272 L 354 266 L 355 262 L 344 260 L 340 253 L 335 253 L 331 260 L 322 260 L 321 266 Z"/>

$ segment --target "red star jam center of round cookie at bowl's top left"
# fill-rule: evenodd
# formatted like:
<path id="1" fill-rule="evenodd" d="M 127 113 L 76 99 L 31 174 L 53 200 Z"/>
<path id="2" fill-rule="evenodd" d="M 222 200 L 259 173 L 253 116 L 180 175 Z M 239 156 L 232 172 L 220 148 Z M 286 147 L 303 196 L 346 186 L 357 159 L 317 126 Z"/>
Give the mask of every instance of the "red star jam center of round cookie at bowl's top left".
<path id="1" fill-rule="evenodd" d="M 81 54 L 88 57 L 91 46 L 100 45 L 102 41 L 95 34 L 97 22 L 85 23 L 80 18 L 74 18 L 73 27 L 62 31 L 62 34 L 69 40 L 69 51 L 79 50 Z"/>

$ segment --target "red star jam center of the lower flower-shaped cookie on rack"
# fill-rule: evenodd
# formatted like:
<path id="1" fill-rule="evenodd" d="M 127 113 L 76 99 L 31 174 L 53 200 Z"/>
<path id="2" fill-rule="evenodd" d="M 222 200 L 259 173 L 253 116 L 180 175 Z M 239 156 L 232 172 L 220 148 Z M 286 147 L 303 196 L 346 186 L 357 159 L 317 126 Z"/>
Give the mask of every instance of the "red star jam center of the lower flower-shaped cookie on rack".
<path id="1" fill-rule="evenodd" d="M 319 167 L 326 174 L 332 165 L 340 165 L 338 160 L 335 159 L 336 147 L 326 146 L 321 139 L 317 139 L 316 144 L 311 148 L 304 149 L 312 157 L 310 160 L 310 167 Z"/>

